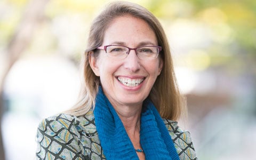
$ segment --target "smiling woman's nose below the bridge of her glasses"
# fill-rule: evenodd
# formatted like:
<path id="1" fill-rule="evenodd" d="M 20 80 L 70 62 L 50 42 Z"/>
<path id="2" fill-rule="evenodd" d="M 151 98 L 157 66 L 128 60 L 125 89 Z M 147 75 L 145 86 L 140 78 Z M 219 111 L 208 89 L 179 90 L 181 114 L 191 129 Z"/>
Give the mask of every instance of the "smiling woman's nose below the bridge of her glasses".
<path id="1" fill-rule="evenodd" d="M 135 50 L 130 50 L 130 53 L 124 59 L 124 67 L 125 69 L 129 69 L 131 72 L 135 73 L 141 67 L 140 59 Z"/>

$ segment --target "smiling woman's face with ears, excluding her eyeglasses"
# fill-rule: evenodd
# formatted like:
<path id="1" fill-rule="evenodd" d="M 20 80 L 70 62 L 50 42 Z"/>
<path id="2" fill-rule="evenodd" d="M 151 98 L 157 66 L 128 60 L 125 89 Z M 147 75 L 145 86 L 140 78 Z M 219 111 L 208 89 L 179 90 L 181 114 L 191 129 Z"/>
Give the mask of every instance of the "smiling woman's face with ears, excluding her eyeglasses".
<path id="1" fill-rule="evenodd" d="M 145 21 L 125 15 L 110 23 L 103 38 L 102 46 L 105 45 L 157 46 L 157 39 Z M 134 50 L 125 59 L 115 60 L 100 50 L 97 59 L 90 57 L 90 65 L 100 77 L 103 92 L 114 107 L 141 106 L 161 73 L 163 62 L 159 56 L 141 60 Z"/>

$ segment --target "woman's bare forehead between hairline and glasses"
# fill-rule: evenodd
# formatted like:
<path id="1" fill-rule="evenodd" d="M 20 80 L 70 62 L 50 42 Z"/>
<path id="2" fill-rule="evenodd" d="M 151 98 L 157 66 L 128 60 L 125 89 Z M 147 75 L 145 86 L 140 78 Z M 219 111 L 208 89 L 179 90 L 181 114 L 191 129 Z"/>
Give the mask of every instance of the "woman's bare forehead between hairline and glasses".
<path id="1" fill-rule="evenodd" d="M 130 45 L 148 41 L 157 45 L 156 35 L 148 23 L 131 15 L 123 15 L 110 22 L 105 31 L 103 44 L 111 44 L 116 41 Z"/>

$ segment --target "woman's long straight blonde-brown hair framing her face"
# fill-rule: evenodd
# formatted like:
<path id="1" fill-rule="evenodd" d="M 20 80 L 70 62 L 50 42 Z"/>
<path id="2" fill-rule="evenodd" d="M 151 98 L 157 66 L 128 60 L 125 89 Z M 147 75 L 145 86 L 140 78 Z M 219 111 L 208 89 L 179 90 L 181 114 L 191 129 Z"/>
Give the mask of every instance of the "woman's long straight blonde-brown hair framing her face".
<path id="1" fill-rule="evenodd" d="M 144 7 L 120 1 L 110 3 L 92 22 L 87 49 L 82 61 L 84 79 L 81 96 L 76 105 L 66 111 L 66 113 L 80 116 L 86 114 L 94 107 L 100 79 L 94 75 L 90 67 L 89 52 L 97 52 L 96 49 L 98 46 L 101 46 L 105 30 L 111 25 L 111 22 L 115 18 L 127 14 L 145 20 L 156 34 L 158 45 L 162 46 L 162 51 L 159 55 L 163 60 L 163 69 L 149 93 L 149 98 L 163 118 L 177 121 L 181 113 L 186 112 L 186 103 L 177 85 L 170 47 L 161 23 Z"/>

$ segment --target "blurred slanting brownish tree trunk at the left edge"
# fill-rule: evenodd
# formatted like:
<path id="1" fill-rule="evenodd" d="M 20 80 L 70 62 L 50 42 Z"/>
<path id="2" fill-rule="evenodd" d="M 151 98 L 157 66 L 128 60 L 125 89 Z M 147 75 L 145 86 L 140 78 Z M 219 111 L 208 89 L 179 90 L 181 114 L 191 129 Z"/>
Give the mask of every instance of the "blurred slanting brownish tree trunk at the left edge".
<path id="1" fill-rule="evenodd" d="M 7 46 L 6 53 L 3 55 L 4 63 L 1 64 L 2 69 L 0 73 L 0 125 L 3 115 L 3 86 L 5 78 L 14 63 L 21 57 L 23 51 L 27 49 L 32 41 L 34 31 L 43 19 L 45 6 L 48 2 L 49 0 L 31 0 L 28 3 L 20 24 L 15 29 L 15 33 Z M 5 159 L 2 132 L 0 132 L 0 159 Z"/>

